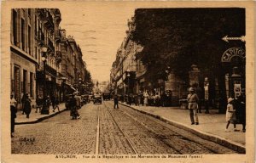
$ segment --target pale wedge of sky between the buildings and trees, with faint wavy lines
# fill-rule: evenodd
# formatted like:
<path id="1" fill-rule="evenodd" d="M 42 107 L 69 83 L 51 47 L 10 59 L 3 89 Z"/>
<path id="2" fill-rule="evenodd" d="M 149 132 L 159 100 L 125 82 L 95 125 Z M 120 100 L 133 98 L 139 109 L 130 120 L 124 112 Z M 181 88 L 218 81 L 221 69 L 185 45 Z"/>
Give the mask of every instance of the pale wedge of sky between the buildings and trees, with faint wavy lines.
<path id="1" fill-rule="evenodd" d="M 92 79 L 108 82 L 117 49 L 128 30 L 127 20 L 134 15 L 135 8 L 114 3 L 74 3 L 60 10 L 61 29 L 79 44 Z"/>

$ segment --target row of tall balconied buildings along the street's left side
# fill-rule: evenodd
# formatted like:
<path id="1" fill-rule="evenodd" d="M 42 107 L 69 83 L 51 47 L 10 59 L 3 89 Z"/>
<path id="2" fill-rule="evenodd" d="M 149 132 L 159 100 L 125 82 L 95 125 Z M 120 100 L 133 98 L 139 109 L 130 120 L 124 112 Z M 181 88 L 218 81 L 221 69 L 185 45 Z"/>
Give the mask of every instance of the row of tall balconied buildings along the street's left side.
<path id="1" fill-rule="evenodd" d="M 58 8 L 12 9 L 10 90 L 19 104 L 24 93 L 32 101 L 44 95 L 63 101 L 67 93 L 83 92 L 83 53 L 60 23 Z"/>

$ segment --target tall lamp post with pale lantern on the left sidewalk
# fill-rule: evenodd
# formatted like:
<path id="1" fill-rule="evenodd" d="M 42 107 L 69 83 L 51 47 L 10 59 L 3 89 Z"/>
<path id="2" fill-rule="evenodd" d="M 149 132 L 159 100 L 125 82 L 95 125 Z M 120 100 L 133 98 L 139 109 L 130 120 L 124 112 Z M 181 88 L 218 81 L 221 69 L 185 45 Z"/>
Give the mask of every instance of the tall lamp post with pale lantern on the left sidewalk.
<path id="1" fill-rule="evenodd" d="M 43 72 L 44 72 L 44 91 L 43 91 L 43 108 L 41 110 L 41 114 L 42 115 L 49 115 L 49 108 L 47 107 L 47 104 L 46 104 L 46 70 L 45 70 L 45 66 L 46 66 L 46 59 L 47 59 L 47 48 L 46 47 L 43 47 L 41 48 L 41 51 L 42 51 L 42 61 L 44 63 L 44 69 L 43 69 Z"/>

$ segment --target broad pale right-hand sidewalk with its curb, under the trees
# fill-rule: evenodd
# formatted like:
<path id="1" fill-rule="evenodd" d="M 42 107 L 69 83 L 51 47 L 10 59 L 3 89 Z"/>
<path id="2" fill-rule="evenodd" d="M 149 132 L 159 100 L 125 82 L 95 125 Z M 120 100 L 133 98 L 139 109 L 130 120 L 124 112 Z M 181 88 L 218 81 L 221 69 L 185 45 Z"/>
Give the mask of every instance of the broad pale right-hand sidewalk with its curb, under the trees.
<path id="1" fill-rule="evenodd" d="M 124 104 L 124 103 L 120 103 Z M 236 125 L 239 132 L 233 131 L 233 124 L 230 124 L 230 132 L 225 132 L 225 114 L 218 114 L 218 110 L 209 110 L 210 114 L 198 114 L 199 125 L 190 125 L 189 110 L 180 109 L 179 107 L 155 107 L 155 106 L 136 106 L 128 105 L 134 110 L 138 110 L 147 115 L 154 116 L 161 121 L 183 128 L 186 131 L 211 140 L 215 143 L 222 144 L 230 149 L 235 149 L 238 152 L 245 153 L 245 133 L 241 132 L 241 124 Z"/>

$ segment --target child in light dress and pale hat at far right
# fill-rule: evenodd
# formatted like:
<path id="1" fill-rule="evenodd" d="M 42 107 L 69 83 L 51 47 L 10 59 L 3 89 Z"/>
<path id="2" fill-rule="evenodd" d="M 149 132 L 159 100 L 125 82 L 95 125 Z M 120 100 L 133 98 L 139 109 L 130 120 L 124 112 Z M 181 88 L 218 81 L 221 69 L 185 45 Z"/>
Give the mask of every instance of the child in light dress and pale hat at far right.
<path id="1" fill-rule="evenodd" d="M 228 128 L 231 122 L 234 123 L 234 132 L 236 132 L 236 110 L 234 110 L 233 100 L 234 98 L 228 99 L 228 105 L 227 105 L 227 111 L 226 111 L 227 125 L 226 125 L 225 132 L 229 132 Z"/>

